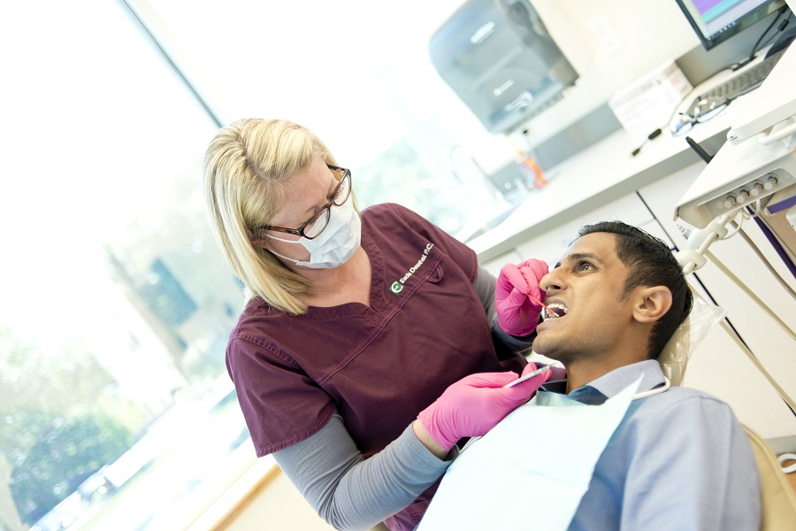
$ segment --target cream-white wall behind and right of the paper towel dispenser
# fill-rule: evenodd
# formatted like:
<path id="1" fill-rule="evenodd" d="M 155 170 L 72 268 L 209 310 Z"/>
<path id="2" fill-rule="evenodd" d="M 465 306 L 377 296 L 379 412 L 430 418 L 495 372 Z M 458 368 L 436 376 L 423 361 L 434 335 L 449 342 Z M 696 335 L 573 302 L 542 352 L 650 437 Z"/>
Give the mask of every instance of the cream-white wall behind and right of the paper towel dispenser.
<path id="1" fill-rule="evenodd" d="M 555 42 L 578 71 L 576 85 L 565 93 L 564 101 L 530 120 L 519 131 L 529 129 L 534 143 L 561 132 L 588 112 L 605 104 L 617 90 L 630 85 L 644 74 L 670 59 L 700 45 L 693 29 L 674 0 L 531 0 Z M 428 37 L 461 4 L 448 0 L 448 15 L 435 10 L 433 23 L 425 21 Z M 437 18 L 439 18 L 437 20 Z M 593 27 L 597 22 L 602 26 Z M 608 24 L 608 27 L 606 27 Z M 615 32 L 615 48 L 606 49 L 598 35 Z M 422 32 L 422 30 L 421 30 Z M 465 146 L 478 162 L 492 172 L 506 164 L 513 151 L 509 142 L 523 145 L 519 132 L 490 135 L 472 115 L 459 96 L 439 78 L 439 87 L 426 88 L 438 102 L 437 112 L 444 115 L 456 141 Z"/>

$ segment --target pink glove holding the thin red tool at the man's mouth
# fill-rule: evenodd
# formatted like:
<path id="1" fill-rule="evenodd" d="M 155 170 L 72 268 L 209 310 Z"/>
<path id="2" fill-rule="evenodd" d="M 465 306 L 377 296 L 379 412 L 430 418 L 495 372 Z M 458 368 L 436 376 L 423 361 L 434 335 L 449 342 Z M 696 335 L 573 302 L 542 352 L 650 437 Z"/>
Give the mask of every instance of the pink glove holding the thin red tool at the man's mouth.
<path id="1" fill-rule="evenodd" d="M 522 264 L 506 264 L 494 285 L 494 309 L 498 324 L 510 335 L 529 335 L 539 324 L 541 305 L 528 295 L 545 302 L 547 295 L 539 287 L 547 274 L 547 264 L 536 258 Z"/>

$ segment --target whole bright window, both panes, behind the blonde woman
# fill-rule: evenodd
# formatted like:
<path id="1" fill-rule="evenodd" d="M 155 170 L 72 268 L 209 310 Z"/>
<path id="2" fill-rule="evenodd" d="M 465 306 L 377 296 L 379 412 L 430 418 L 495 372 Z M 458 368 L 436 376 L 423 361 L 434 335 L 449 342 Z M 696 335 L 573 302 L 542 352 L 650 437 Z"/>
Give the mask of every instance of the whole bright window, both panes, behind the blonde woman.
<path id="1" fill-rule="evenodd" d="M 448 160 L 501 142 L 428 58 L 457 2 L 131 4 L 223 123 L 310 127 L 361 205 L 453 234 L 501 207 Z M 185 527 L 254 459 L 224 366 L 242 287 L 201 188 L 217 124 L 120 4 L 6 3 L 0 24 L 0 529 Z"/>

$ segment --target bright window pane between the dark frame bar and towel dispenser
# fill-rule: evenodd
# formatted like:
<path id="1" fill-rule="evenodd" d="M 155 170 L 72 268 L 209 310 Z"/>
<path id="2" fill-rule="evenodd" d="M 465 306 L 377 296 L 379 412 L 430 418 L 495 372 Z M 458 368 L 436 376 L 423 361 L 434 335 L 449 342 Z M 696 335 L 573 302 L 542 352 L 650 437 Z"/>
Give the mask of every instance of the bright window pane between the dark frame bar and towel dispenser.
<path id="1" fill-rule="evenodd" d="M 433 68 L 429 39 L 460 4 L 134 2 L 222 122 L 309 127 L 351 169 L 360 206 L 400 203 L 454 235 L 507 207 L 456 146 L 487 171 L 514 158 Z"/>

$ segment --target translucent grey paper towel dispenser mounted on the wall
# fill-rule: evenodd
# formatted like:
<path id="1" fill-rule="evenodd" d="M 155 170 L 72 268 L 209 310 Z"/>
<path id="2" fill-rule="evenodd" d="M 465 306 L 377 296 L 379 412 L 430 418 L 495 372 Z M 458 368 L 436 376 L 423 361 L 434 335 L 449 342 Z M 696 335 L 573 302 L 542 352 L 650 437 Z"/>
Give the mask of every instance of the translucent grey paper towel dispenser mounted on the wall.
<path id="1" fill-rule="evenodd" d="M 490 133 L 509 133 L 578 73 L 527 0 L 468 0 L 430 43 L 432 63 Z"/>

